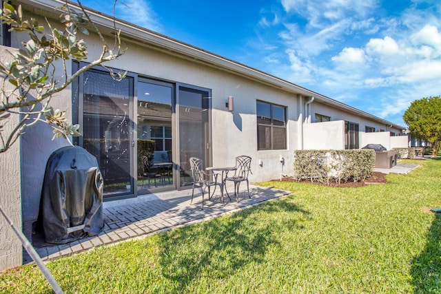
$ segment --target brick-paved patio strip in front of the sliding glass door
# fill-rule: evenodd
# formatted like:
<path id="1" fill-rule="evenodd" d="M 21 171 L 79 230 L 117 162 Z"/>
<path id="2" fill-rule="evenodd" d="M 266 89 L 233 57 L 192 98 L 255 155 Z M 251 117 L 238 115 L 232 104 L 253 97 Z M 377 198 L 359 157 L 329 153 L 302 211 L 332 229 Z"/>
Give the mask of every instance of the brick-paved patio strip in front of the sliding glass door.
<path id="1" fill-rule="evenodd" d="M 152 233 L 204 222 L 226 213 L 234 213 L 271 199 L 287 196 L 291 192 L 250 185 L 249 193 L 251 198 L 247 196 L 244 185 L 241 187 L 239 202 L 236 202 L 234 195 L 230 195 L 232 200 L 225 195 L 225 206 L 217 192 L 211 200 L 207 200 L 206 195 L 203 210 L 200 189 L 195 189 L 192 205 L 190 205 L 191 189 L 104 202 L 104 229 L 99 235 L 60 245 L 45 243 L 35 235 L 32 241 L 40 257 L 47 261 L 87 251 L 96 246 L 143 238 Z M 32 258 L 24 251 L 23 264 L 29 262 L 32 262 Z"/>

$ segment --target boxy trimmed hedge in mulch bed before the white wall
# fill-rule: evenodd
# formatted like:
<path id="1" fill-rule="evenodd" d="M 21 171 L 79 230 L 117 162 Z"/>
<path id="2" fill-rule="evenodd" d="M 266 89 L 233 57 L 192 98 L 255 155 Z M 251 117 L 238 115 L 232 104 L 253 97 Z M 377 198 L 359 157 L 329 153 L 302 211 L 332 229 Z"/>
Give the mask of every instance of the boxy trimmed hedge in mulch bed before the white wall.
<path id="1" fill-rule="evenodd" d="M 375 151 L 353 150 L 296 150 L 294 175 L 297 180 L 326 182 L 335 180 L 361 182 L 369 178 L 375 164 Z"/>

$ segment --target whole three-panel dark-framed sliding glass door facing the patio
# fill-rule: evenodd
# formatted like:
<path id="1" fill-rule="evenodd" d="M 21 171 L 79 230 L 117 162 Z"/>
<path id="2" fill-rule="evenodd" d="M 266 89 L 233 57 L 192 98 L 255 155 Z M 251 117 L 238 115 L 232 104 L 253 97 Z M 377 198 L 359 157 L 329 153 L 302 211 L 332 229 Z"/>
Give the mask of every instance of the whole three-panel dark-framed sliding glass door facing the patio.
<path id="1" fill-rule="evenodd" d="M 187 189 L 189 158 L 211 165 L 211 90 L 89 70 L 78 93 L 78 143 L 99 162 L 105 198 Z"/>

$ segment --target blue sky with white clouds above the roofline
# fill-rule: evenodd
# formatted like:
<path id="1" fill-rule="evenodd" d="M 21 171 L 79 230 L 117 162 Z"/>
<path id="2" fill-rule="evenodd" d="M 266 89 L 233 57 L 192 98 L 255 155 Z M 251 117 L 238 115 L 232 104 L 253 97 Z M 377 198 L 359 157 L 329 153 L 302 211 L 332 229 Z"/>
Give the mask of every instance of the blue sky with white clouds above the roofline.
<path id="1" fill-rule="evenodd" d="M 118 0 L 116 17 L 402 126 L 441 94 L 439 0 Z"/>

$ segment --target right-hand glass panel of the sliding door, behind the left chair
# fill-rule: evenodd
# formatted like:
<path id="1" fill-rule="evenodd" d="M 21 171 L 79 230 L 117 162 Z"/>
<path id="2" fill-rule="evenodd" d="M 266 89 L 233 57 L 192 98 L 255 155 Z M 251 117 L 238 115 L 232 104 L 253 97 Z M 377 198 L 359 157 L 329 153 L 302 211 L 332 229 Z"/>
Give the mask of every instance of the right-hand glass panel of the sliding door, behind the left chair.
<path id="1" fill-rule="evenodd" d="M 179 182 L 181 187 L 192 185 L 189 158 L 201 158 L 204 167 L 211 165 L 209 145 L 210 93 L 189 87 L 179 87 Z"/>

